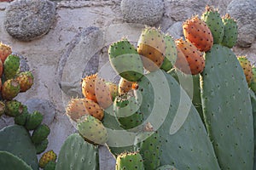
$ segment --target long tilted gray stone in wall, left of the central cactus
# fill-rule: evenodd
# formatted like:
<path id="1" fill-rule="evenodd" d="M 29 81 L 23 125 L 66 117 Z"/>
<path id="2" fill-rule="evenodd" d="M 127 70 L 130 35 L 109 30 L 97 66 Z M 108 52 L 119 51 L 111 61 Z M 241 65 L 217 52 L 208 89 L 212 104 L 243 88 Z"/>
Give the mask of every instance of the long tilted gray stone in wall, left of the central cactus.
<path id="1" fill-rule="evenodd" d="M 87 67 L 87 72 L 88 68 L 93 69 L 89 72 L 98 68 L 98 63 L 91 60 L 97 57 L 103 43 L 102 31 L 96 27 L 88 27 L 80 31 L 68 44 L 58 66 L 59 85 L 67 96 L 81 96 L 84 68 Z"/>

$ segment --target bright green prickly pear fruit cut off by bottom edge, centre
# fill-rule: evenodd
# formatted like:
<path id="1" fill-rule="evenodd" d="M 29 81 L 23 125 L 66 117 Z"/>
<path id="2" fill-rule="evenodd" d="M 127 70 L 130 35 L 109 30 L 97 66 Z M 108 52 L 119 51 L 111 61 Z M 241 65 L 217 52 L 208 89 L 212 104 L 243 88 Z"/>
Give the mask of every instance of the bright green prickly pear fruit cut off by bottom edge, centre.
<path id="1" fill-rule="evenodd" d="M 137 152 L 122 153 L 116 158 L 115 170 L 144 170 L 143 157 Z"/>

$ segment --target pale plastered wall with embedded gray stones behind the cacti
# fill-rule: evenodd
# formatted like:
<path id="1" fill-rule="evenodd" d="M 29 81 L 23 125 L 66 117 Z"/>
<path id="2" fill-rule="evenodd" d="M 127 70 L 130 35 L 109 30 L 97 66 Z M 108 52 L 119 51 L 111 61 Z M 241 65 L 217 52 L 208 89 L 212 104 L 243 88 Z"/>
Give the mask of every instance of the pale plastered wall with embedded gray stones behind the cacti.
<path id="1" fill-rule="evenodd" d="M 29 0 L 23 1 L 29 2 Z M 18 0 L 12 3 L 16 2 Z M 42 2 L 48 1 L 42 0 Z M 38 14 L 37 10 L 40 12 L 39 5 L 33 6 L 32 11 L 36 10 L 36 12 L 32 15 L 29 11 L 27 12 L 26 16 L 30 18 L 24 21 L 27 23 L 26 26 L 21 26 L 21 30 L 26 28 L 22 31 L 28 31 L 24 37 L 22 37 L 25 35 L 24 32 L 17 33 L 15 26 L 11 25 L 14 22 L 20 22 L 20 19 L 13 18 L 15 14 L 9 14 L 12 3 L 0 3 L 0 23 L 2 23 L 0 41 L 9 44 L 16 54 L 25 57 L 33 71 L 35 81 L 32 89 L 25 94 L 19 94 L 17 99 L 28 105 L 29 111 L 39 110 L 44 113 L 44 122 L 51 129 L 48 150 L 53 149 L 56 153 L 60 151 L 61 144 L 67 136 L 75 132 L 75 128 L 64 113 L 68 100 L 72 96 L 81 95 L 79 87 L 81 77 L 107 67 L 108 78 L 114 80 L 114 72 L 109 65 L 106 65 L 108 64 L 108 45 L 122 37 L 128 37 L 131 42 L 137 42 L 144 24 L 160 26 L 162 31 L 169 32 L 173 37 L 182 37 L 183 21 L 192 15 L 201 14 L 207 4 L 214 5 L 219 9 L 220 14 L 228 11 L 237 19 L 240 29 L 239 44 L 234 48 L 234 52 L 237 55 L 247 54 L 253 63 L 256 61 L 254 0 L 155 1 L 158 3 L 145 0 L 144 3 L 148 3 L 148 8 L 140 8 L 143 11 L 136 8 L 136 4 L 143 1 L 136 0 L 123 1 L 122 4 L 120 0 L 52 2 L 55 10 L 44 6 L 44 10 L 50 9 L 51 13 L 48 11 L 49 15 L 46 16 L 48 20 L 42 19 L 45 25 L 41 25 L 40 29 L 35 28 L 36 26 L 30 22 L 30 20 L 37 20 L 34 16 Z M 137 15 L 130 17 L 129 8 L 132 14 Z M 160 17 L 156 14 L 160 14 Z M 52 20 L 49 21 L 49 17 L 53 17 Z M 7 23 L 7 19 L 11 19 L 12 22 Z M 47 24 L 49 26 L 46 26 Z M 34 31 L 33 29 L 36 29 L 37 34 L 30 34 L 29 31 Z M 0 119 L 0 127 L 11 123 L 13 123 L 12 120 L 7 117 L 3 116 Z M 113 158 L 108 155 L 106 148 L 103 147 L 101 151 L 101 161 L 104 162 L 101 169 L 113 169 Z"/>

